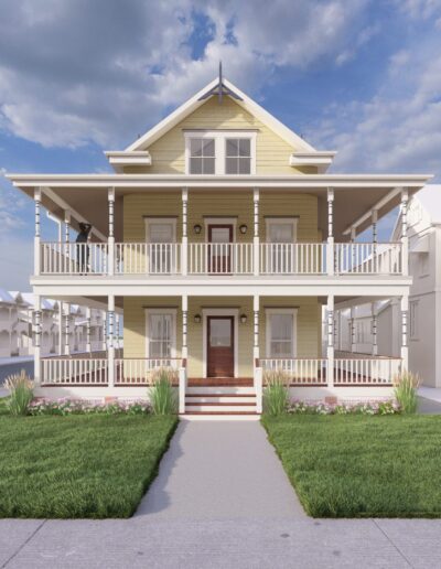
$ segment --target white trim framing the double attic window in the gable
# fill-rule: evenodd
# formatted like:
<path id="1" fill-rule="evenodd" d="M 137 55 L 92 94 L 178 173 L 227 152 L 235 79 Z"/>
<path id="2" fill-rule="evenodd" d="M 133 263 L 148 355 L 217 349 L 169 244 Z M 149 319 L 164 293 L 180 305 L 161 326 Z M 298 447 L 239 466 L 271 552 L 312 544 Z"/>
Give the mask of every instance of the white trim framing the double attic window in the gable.
<path id="1" fill-rule="evenodd" d="M 256 174 L 256 141 L 257 132 L 244 130 L 187 130 L 184 132 L 185 138 L 185 173 L 190 174 L 190 140 L 192 138 L 213 138 L 214 139 L 214 173 L 216 175 L 225 175 L 226 172 L 226 139 L 227 138 L 246 138 L 250 140 L 250 173 L 249 174 L 228 174 L 228 175 L 255 175 Z M 197 175 L 197 174 L 192 174 Z M 201 174 L 204 175 L 204 174 Z"/>

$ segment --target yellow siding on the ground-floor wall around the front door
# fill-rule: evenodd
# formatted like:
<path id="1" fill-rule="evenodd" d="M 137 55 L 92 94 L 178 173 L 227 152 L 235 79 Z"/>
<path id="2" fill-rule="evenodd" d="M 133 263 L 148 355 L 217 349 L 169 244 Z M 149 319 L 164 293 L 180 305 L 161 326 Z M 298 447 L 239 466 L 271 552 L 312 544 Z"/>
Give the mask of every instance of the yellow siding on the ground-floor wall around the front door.
<path id="1" fill-rule="evenodd" d="M 146 357 L 146 307 L 178 307 L 176 351 L 182 347 L 181 299 L 178 297 L 127 297 L 123 299 L 123 351 L 125 357 Z M 298 357 L 319 357 L 321 336 L 321 311 L 316 297 L 287 297 L 260 299 L 260 356 L 266 351 L 266 309 L 277 307 L 297 308 L 297 355 Z M 203 315 L 204 309 L 232 308 L 247 315 L 245 324 L 238 322 L 238 374 L 252 376 L 252 299 L 250 297 L 212 298 L 194 297 L 189 299 L 189 377 L 203 376 L 203 323 L 194 322 L 195 314 Z"/>

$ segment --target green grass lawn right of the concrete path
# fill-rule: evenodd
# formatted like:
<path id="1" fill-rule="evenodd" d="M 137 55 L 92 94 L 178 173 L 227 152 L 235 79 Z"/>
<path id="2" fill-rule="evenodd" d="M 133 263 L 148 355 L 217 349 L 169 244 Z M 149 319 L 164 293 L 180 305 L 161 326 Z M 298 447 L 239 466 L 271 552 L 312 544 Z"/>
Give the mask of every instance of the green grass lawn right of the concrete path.
<path id="1" fill-rule="evenodd" d="M 313 517 L 441 517 L 441 416 L 263 417 Z"/>

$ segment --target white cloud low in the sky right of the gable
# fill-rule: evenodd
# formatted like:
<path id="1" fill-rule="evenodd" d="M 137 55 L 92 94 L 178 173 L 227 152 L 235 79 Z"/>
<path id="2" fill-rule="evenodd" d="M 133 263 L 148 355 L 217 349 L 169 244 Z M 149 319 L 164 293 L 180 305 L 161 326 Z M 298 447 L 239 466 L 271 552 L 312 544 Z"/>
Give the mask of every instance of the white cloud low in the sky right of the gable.
<path id="1" fill-rule="evenodd" d="M 441 173 L 441 56 L 427 49 L 397 52 L 373 98 L 315 125 L 310 139 L 338 150 L 335 170 Z"/>

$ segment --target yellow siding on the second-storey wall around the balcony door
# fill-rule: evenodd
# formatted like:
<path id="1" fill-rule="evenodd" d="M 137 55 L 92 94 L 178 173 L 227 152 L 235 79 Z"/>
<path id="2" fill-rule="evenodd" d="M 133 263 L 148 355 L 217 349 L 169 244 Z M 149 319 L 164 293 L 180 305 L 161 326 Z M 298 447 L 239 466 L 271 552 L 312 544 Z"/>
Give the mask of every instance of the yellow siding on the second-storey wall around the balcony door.
<path id="1" fill-rule="evenodd" d="M 260 192 L 259 233 L 265 243 L 267 216 L 299 216 L 298 241 L 316 243 L 320 239 L 318 232 L 318 198 L 315 195 L 293 192 Z M 182 236 L 182 198 L 181 192 L 146 192 L 125 195 L 123 197 L 123 240 L 144 241 L 144 216 L 178 217 L 176 239 Z M 205 233 L 195 235 L 195 224 L 204 228 L 205 217 L 236 217 L 237 227 L 248 226 L 245 235 L 237 232 L 236 240 L 252 241 L 254 205 L 250 191 L 190 191 L 187 206 L 189 241 L 204 241 Z M 222 223 L 222 221 L 219 221 Z"/>

